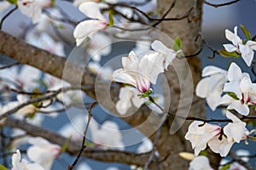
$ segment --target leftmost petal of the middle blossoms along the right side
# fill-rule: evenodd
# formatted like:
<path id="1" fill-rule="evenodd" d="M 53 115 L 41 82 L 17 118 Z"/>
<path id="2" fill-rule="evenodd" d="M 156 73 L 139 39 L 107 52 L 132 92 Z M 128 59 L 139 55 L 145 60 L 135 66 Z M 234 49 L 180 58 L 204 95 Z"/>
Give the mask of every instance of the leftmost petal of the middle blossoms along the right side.
<path id="1" fill-rule="evenodd" d="M 201 81 L 198 82 L 198 84 L 195 88 L 195 94 L 198 97 L 207 98 L 208 92 L 209 92 L 209 90 L 208 90 L 209 83 L 210 83 L 210 77 L 201 79 Z"/>

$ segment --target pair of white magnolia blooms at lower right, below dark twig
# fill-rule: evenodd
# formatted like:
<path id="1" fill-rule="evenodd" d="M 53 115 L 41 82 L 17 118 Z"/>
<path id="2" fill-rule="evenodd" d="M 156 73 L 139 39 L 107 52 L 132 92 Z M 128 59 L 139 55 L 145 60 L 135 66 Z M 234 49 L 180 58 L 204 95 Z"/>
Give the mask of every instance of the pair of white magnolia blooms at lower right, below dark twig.
<path id="1" fill-rule="evenodd" d="M 189 140 L 192 148 L 195 149 L 195 156 L 198 156 L 201 150 L 205 150 L 207 144 L 213 152 L 219 153 L 220 156 L 227 156 L 235 142 L 240 143 L 241 140 L 247 139 L 246 123 L 241 122 L 230 111 L 227 111 L 226 116 L 232 122 L 224 127 L 223 132 L 218 125 L 200 121 L 192 122 L 189 125 L 185 139 Z"/>

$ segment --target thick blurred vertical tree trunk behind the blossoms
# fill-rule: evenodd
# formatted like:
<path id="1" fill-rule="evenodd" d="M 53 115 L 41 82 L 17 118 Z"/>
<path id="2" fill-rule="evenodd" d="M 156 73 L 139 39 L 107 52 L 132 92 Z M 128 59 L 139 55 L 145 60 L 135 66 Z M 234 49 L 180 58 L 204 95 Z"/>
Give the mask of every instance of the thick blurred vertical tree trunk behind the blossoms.
<path id="1" fill-rule="evenodd" d="M 158 0 L 158 14 L 159 17 L 162 16 L 167 9 L 171 6 L 172 0 Z M 201 31 L 201 14 L 202 14 L 202 4 L 203 0 L 191 1 L 191 0 L 177 0 L 174 8 L 171 12 L 166 15 L 166 18 L 177 18 L 184 14 L 187 14 L 190 8 L 194 8 L 189 15 L 188 20 L 175 20 L 175 21 L 163 21 L 160 24 L 160 30 L 165 32 L 169 37 L 175 39 L 179 37 L 182 40 L 182 50 L 184 55 L 195 54 L 201 48 L 201 42 L 195 44 L 195 37 L 198 31 Z M 191 97 L 190 89 L 193 89 L 193 105 L 191 105 L 189 115 L 203 117 L 205 116 L 205 110 L 202 100 L 199 100 L 195 96 L 195 85 L 201 77 L 201 61 L 198 57 L 193 57 L 187 59 L 189 63 L 176 61 L 174 66 L 169 67 L 168 71 L 165 73 L 165 77 L 169 84 L 169 89 L 163 94 L 171 93 L 171 105 L 169 111 L 172 113 L 177 112 L 177 105 L 179 102 L 183 102 Z M 188 70 L 192 73 L 192 78 L 189 77 Z M 177 77 L 178 75 L 178 77 Z M 181 83 L 181 84 L 180 84 Z M 194 87 L 193 87 L 194 85 Z M 190 89 L 189 89 L 190 88 Z M 163 88 L 164 90 L 166 88 Z M 170 92 L 168 92 L 170 90 Z M 185 102 L 189 105 L 189 102 Z M 186 107 L 186 106 L 185 106 Z M 188 109 L 188 108 L 187 108 Z M 179 109 L 180 113 L 186 111 L 186 108 Z M 177 131 L 177 133 L 169 133 L 169 129 L 172 127 L 173 123 L 177 123 L 179 120 L 173 122 L 173 117 L 170 117 L 161 130 L 160 139 L 157 144 L 157 150 L 160 152 L 161 159 L 165 161 L 160 162 L 162 169 L 188 169 L 189 161 L 183 160 L 178 156 L 181 151 L 190 151 L 191 145 L 188 141 L 184 139 L 184 135 L 188 130 L 190 122 L 184 122 L 182 127 Z M 175 124 L 173 125 L 175 126 Z M 219 159 L 217 159 L 218 161 Z M 159 166 L 159 165 L 158 165 Z M 155 165 L 152 165 L 151 169 L 154 169 Z"/>

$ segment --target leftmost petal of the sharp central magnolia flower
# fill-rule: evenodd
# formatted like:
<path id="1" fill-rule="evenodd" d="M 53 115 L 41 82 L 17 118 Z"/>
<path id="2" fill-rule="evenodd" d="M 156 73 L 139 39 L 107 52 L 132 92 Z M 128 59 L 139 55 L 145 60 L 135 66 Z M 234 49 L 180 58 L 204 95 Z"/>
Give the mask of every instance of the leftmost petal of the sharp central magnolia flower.
<path id="1" fill-rule="evenodd" d="M 135 77 L 131 76 L 131 71 L 124 71 L 123 69 L 119 69 L 113 71 L 112 77 L 115 82 L 123 82 L 137 87 L 137 80 Z"/>

